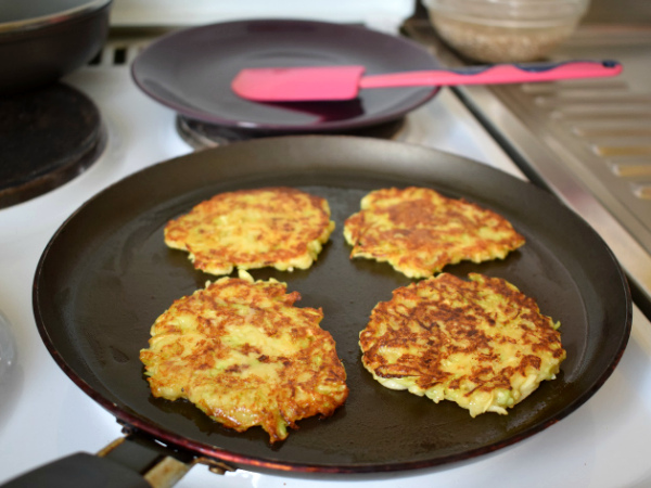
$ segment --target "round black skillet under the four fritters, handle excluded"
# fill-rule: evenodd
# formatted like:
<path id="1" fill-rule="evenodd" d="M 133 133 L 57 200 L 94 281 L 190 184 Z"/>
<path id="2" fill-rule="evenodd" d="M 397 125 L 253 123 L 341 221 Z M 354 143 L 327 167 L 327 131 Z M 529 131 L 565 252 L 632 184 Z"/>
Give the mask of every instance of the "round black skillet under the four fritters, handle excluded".
<path id="1" fill-rule="evenodd" d="M 293 273 L 258 270 L 322 307 L 350 395 L 332 418 L 307 419 L 271 447 L 260 428 L 237 434 L 192 404 L 154 399 L 138 359 L 154 319 L 210 279 L 163 227 L 215 193 L 292 185 L 330 202 L 336 230 L 316 265 Z M 508 415 L 434 404 L 380 386 L 362 369 L 357 339 L 369 312 L 410 280 L 384 264 L 348 259 L 344 219 L 368 191 L 425 185 L 506 216 L 527 240 L 505 260 L 447 271 L 501 277 L 562 323 L 567 350 L 557 380 Z M 615 258 L 580 218 L 538 188 L 474 162 L 417 145 L 334 136 L 271 138 L 203 151 L 144 169 L 87 202 L 56 232 L 38 265 L 34 310 L 54 360 L 130 432 L 168 449 L 246 470 L 368 473 L 445 466 L 513 445 L 563 419 L 610 376 L 631 321 Z"/>

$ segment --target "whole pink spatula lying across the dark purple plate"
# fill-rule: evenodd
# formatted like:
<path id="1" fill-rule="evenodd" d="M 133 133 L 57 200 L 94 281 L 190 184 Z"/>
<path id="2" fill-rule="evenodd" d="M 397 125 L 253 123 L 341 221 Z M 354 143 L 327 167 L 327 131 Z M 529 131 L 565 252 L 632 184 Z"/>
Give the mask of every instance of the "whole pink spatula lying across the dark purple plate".
<path id="1" fill-rule="evenodd" d="M 350 100 L 360 89 L 522 84 L 616 76 L 616 61 L 498 64 L 462 69 L 390 73 L 363 76 L 363 66 L 271 67 L 242 69 L 231 84 L 243 99 L 257 102 Z"/>

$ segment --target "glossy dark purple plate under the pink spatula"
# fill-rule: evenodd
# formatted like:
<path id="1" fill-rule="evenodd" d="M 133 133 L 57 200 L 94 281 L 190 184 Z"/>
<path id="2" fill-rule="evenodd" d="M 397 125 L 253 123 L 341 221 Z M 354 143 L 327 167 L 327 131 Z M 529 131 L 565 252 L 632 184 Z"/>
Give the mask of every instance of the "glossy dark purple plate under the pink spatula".
<path id="1" fill-rule="evenodd" d="M 365 90 L 346 102 L 256 103 L 230 89 L 245 67 L 361 64 L 368 74 L 434 69 L 439 63 L 407 39 L 360 26 L 310 21 L 244 21 L 180 30 L 133 62 L 136 84 L 179 114 L 251 131 L 337 132 L 397 119 L 437 88 Z"/>

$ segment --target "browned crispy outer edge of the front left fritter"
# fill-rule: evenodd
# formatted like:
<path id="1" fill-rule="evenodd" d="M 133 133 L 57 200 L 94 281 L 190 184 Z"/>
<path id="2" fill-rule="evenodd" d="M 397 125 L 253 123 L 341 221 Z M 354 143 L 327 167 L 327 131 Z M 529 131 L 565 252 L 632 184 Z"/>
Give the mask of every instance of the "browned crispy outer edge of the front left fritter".
<path id="1" fill-rule="evenodd" d="M 269 291 L 269 294 L 265 297 L 271 300 L 277 300 L 278 305 L 283 306 L 285 309 L 293 309 L 299 313 L 302 318 L 305 319 L 306 316 L 311 317 L 309 322 L 305 326 L 305 331 L 308 332 L 308 335 L 312 337 L 312 339 L 308 341 L 308 345 L 306 347 L 302 347 L 299 349 L 299 355 L 289 357 L 279 357 L 283 361 L 280 361 L 284 364 L 284 361 L 290 361 L 288 364 L 284 364 L 283 372 L 290 371 L 291 373 L 296 373 L 295 376 L 289 378 L 286 383 L 286 388 L 280 388 L 281 393 L 291 391 L 291 395 L 284 396 L 273 396 L 273 400 L 280 399 L 278 403 L 271 403 L 271 406 L 277 406 L 279 408 L 276 410 L 255 410 L 252 409 L 252 415 L 257 418 L 259 421 L 251 424 L 242 424 L 237 420 L 237 415 L 229 415 L 231 408 L 237 407 L 234 403 L 229 404 L 227 409 L 221 410 L 219 408 L 213 408 L 209 402 L 204 401 L 204 398 L 193 399 L 193 387 L 201 387 L 201 383 L 199 385 L 191 386 L 189 384 L 179 384 L 177 381 L 168 382 L 168 377 L 166 375 L 159 376 L 156 374 L 157 370 L 161 368 L 161 361 L 157 361 L 161 357 L 161 351 L 157 349 L 152 349 L 153 344 L 156 339 L 161 338 L 163 335 L 169 335 L 179 333 L 178 324 L 173 323 L 171 326 L 166 320 L 169 313 L 182 312 L 188 309 L 188 300 L 203 299 L 202 296 L 205 292 L 209 290 L 210 286 L 224 284 L 231 284 L 233 281 L 246 282 L 252 285 L 259 284 L 264 286 L 265 290 Z M 257 293 L 257 291 L 253 291 Z M 208 296 L 206 301 L 215 303 L 215 296 Z M 217 300 L 219 298 L 217 297 Z M 346 370 L 341 359 L 336 354 L 336 344 L 334 338 L 330 334 L 330 332 L 320 328 L 319 322 L 323 317 L 323 312 L 321 309 L 312 309 L 312 308 L 297 308 L 294 307 L 294 303 L 301 299 L 301 295 L 298 292 L 286 293 L 286 284 L 282 282 L 278 282 L 275 279 L 270 279 L 269 281 L 255 281 L 246 271 L 240 271 L 239 278 L 221 278 L 213 283 L 209 281 L 206 282 L 206 287 L 202 290 L 195 291 L 192 295 L 184 296 L 178 298 L 174 301 L 174 304 L 162 313 L 154 324 L 151 328 L 151 338 L 149 342 L 149 347 L 143 348 L 140 351 L 140 360 L 144 364 L 145 376 L 149 384 L 152 395 L 156 398 L 165 398 L 167 400 L 178 400 L 186 399 L 192 402 L 196 408 L 202 410 L 208 418 L 213 419 L 215 422 L 220 423 L 221 425 L 232 428 L 235 432 L 244 432 L 254 426 L 260 426 L 264 431 L 269 434 L 269 440 L 271 444 L 275 444 L 280 440 L 284 440 L 289 436 L 288 427 L 290 428 L 298 428 L 296 424 L 297 421 L 309 416 L 319 415 L 324 419 L 331 416 L 336 409 L 342 407 L 349 394 L 348 386 L 346 385 Z M 235 300 L 237 301 L 237 300 Z M 237 304 L 234 305 L 237 306 Z M 201 321 L 197 321 L 201 322 Z M 158 331 L 158 329 L 161 329 Z M 297 329 L 294 331 L 294 329 Z M 290 331 L 292 336 L 296 334 L 296 341 L 301 337 L 301 328 L 292 328 Z M 192 331 L 192 334 L 195 334 L 195 331 Z M 273 332 L 275 334 L 275 332 Z M 229 335 L 230 336 L 230 335 Z M 201 341 L 200 341 L 201 342 Z M 177 344 L 174 342 L 174 344 Z M 319 348 L 321 345 L 326 345 L 326 348 Z M 169 347 L 169 344 L 164 343 L 162 347 Z M 244 352 L 254 354 L 256 350 L 255 346 L 244 344 L 242 346 L 245 350 Z M 239 351 L 238 348 L 228 348 L 228 351 Z M 242 351 L 239 351 L 242 352 Z M 270 356 L 267 356 L 265 352 L 269 351 L 260 351 L 259 358 L 257 360 L 263 363 L 272 362 Z M 298 380 L 298 376 L 305 373 L 309 373 L 309 368 L 305 368 L 304 364 L 306 361 L 298 362 L 298 359 L 307 359 L 320 357 L 321 360 L 319 362 L 318 374 L 312 374 L 309 378 Z M 264 358 L 264 359 L 263 359 Z M 199 358 L 201 362 L 202 358 Z M 277 361 L 278 362 L 278 361 Z M 246 370 L 250 367 L 246 363 L 241 364 L 235 368 L 232 365 L 229 373 L 237 374 L 242 370 Z M 171 364 L 173 368 L 176 368 L 175 364 Z M 294 367 L 296 367 L 296 371 L 294 371 Z M 202 370 L 202 368 L 199 368 Z M 190 373 L 192 369 L 188 369 L 184 365 L 182 367 L 182 373 Z M 226 376 L 220 376 L 220 378 L 226 378 Z M 175 377 L 176 380 L 176 377 Z M 227 382 L 230 380 L 230 376 L 226 378 Z M 235 377 L 235 380 L 242 381 L 241 377 Z M 188 380 L 189 381 L 189 380 Z M 326 383 L 324 383 L 326 382 Z M 235 382 L 237 383 L 237 382 Z M 248 383 L 248 381 L 246 381 Z M 307 385 L 307 388 L 305 387 Z M 329 389 L 332 387 L 332 389 Z M 311 389 L 310 389 L 311 388 Z M 244 389 L 247 391 L 247 389 Z M 326 391 L 326 393 L 324 393 Z M 296 396 L 302 397 L 302 400 L 297 401 Z M 282 401 L 282 400 L 285 401 Z M 318 401 L 315 401 L 318 400 Z M 288 401 L 290 400 L 290 401 Z M 257 403 L 255 403 L 257 404 Z M 267 404 L 265 404 L 267 407 Z M 235 410 L 241 410 L 241 408 L 237 408 Z M 276 412 L 277 414 L 273 414 Z M 231 412 L 232 413 L 232 412 Z"/>

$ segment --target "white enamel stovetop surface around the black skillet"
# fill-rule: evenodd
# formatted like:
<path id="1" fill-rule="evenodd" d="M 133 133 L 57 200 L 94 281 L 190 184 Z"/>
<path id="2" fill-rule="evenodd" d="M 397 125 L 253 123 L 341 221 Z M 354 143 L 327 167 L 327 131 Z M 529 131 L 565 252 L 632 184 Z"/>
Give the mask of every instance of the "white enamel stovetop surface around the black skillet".
<path id="1" fill-rule="evenodd" d="M 120 436 L 114 418 L 64 375 L 42 345 L 31 311 L 31 280 L 50 236 L 85 200 L 136 170 L 191 151 L 174 129 L 174 114 L 139 92 L 127 67 L 84 68 L 65 81 L 98 103 L 110 144 L 72 182 L 0 209 L 0 310 L 9 323 L 0 319 L 0 483 L 73 452 L 97 452 Z M 405 142 L 521 176 L 447 90 L 412 114 L 408 127 Z M 355 481 L 241 471 L 218 476 L 196 466 L 178 486 L 327 488 L 335 481 L 339 487 L 642 487 L 651 486 L 649 438 L 651 324 L 636 310 L 618 368 L 585 406 L 533 438 L 470 464 Z"/>

